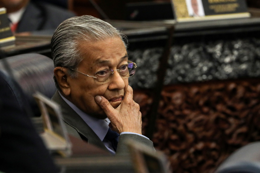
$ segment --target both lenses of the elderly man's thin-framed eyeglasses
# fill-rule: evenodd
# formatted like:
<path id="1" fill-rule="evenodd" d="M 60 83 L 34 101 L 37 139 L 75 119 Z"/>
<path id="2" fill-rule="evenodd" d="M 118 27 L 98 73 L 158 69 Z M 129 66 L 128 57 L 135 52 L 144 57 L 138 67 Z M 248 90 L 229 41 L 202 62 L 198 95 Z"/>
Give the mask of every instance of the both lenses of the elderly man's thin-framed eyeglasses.
<path id="1" fill-rule="evenodd" d="M 120 73 L 122 78 L 129 78 L 135 73 L 136 67 L 134 66 L 134 63 L 129 63 L 126 65 L 122 65 L 118 72 Z M 106 70 L 101 70 L 99 72 L 96 72 L 94 75 L 95 82 L 108 82 L 111 78 L 111 73 L 114 72 L 113 69 L 106 69 Z"/>

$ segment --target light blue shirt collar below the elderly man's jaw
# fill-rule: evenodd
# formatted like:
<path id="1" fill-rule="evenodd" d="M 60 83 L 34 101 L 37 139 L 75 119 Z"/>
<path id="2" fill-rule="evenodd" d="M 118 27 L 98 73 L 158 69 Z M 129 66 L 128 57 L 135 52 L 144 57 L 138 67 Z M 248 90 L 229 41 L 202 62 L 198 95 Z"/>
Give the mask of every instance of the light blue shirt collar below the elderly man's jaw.
<path id="1" fill-rule="evenodd" d="M 101 141 L 104 140 L 107 131 L 108 131 L 108 124 L 110 121 L 108 118 L 104 120 L 97 119 L 95 117 L 92 117 L 86 113 L 84 113 L 82 110 L 80 110 L 78 107 L 76 107 L 72 102 L 67 100 L 66 98 L 61 95 L 60 91 L 59 94 L 61 98 L 77 113 L 79 116 L 88 124 L 88 126 L 95 132 L 95 134 L 99 137 Z"/>

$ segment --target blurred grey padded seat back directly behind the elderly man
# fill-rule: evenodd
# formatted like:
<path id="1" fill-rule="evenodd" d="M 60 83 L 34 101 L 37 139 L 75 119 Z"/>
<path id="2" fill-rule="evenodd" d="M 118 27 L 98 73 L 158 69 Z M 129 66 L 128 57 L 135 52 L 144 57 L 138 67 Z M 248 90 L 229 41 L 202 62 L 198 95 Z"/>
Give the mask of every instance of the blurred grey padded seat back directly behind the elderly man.
<path id="1" fill-rule="evenodd" d="M 32 94 L 38 91 L 51 98 L 56 91 L 53 69 L 53 61 L 50 58 L 36 53 L 21 54 L 0 60 L 0 71 L 14 78 L 22 88 L 34 116 L 40 116 L 40 110 Z M 22 100 L 17 100 L 19 105 L 24 104 Z"/>

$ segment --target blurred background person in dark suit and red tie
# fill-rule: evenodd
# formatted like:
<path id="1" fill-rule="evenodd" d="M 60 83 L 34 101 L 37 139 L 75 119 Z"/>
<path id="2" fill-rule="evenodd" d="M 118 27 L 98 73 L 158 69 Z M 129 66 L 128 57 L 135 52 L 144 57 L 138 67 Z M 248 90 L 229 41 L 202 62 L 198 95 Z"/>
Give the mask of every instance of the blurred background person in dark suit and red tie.
<path id="1" fill-rule="evenodd" d="M 0 0 L 10 19 L 12 32 L 55 30 L 74 13 L 42 1 Z"/>

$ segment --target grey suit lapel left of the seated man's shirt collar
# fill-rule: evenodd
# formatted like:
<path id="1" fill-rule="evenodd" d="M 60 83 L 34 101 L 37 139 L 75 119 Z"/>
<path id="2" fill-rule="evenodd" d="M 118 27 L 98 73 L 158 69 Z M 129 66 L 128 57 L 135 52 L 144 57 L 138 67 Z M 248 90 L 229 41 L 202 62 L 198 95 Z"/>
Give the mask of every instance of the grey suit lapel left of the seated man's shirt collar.
<path id="1" fill-rule="evenodd" d="M 58 91 L 55 92 L 51 100 L 59 103 L 62 109 L 63 120 L 75 128 L 77 132 L 84 136 L 89 143 L 94 144 L 102 149 L 107 150 L 106 146 L 95 134 L 95 132 L 87 125 L 86 122 L 61 98 Z"/>

